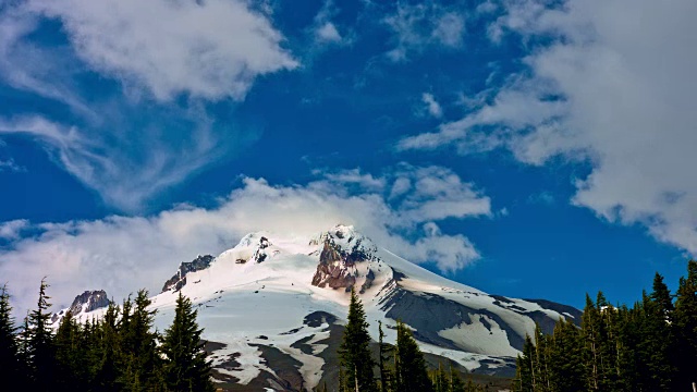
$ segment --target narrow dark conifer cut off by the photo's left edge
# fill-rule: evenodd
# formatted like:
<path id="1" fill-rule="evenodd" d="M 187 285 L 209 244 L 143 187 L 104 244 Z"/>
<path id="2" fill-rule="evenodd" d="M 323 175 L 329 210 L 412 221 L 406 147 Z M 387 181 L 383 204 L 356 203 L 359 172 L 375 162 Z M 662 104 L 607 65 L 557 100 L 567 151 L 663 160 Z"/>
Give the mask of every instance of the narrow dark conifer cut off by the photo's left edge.
<path id="1" fill-rule="evenodd" d="M 20 367 L 16 331 L 10 305 L 10 294 L 7 286 L 3 286 L 0 290 L 0 372 L 2 373 L 0 379 L 16 377 L 23 370 Z"/>

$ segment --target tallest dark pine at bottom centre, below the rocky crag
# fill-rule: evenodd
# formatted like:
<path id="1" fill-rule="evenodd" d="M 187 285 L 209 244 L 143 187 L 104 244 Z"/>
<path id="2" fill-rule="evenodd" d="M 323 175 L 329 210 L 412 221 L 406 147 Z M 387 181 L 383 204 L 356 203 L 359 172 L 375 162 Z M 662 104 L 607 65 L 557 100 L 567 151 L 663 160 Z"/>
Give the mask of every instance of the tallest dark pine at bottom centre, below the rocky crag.
<path id="1" fill-rule="evenodd" d="M 339 355 L 341 366 L 345 372 L 345 381 L 350 388 L 357 385 L 360 392 L 375 392 L 378 390 L 372 373 L 375 360 L 370 356 L 370 334 L 363 304 L 351 290 L 351 304 L 348 306 L 348 322 L 341 342 Z"/>

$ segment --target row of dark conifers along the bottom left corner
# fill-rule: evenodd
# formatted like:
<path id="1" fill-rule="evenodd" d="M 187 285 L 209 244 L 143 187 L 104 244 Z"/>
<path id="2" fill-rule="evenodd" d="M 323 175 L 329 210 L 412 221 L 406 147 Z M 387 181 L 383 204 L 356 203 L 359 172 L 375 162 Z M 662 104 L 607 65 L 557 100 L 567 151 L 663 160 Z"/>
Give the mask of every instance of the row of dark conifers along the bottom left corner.
<path id="1" fill-rule="evenodd" d="M 152 328 L 156 310 L 142 290 L 100 320 L 78 323 L 68 311 L 54 331 L 41 281 L 37 308 L 22 326 L 0 292 L 0 380 L 25 391 L 215 391 L 192 302 L 180 293 L 172 324 Z M 12 388 L 12 387 L 14 388 Z"/>

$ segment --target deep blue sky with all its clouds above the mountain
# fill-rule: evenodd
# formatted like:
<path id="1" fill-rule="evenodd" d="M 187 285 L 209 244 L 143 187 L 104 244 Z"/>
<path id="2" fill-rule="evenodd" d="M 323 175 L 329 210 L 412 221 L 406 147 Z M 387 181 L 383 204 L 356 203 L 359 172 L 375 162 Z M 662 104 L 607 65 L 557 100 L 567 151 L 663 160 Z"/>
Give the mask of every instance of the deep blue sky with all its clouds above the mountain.
<path id="1" fill-rule="evenodd" d="M 120 296 L 342 222 L 487 292 L 631 303 L 697 253 L 695 11 L 5 2 L 1 280 Z"/>

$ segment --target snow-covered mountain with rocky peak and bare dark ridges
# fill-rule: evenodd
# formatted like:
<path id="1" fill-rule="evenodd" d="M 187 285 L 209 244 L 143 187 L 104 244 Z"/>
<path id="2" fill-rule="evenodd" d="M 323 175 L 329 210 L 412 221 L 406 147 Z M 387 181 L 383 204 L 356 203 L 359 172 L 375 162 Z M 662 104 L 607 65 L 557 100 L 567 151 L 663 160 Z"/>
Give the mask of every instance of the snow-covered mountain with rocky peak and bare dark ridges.
<path id="1" fill-rule="evenodd" d="M 359 293 L 374 339 L 381 321 L 386 341 L 394 342 L 395 320 L 402 320 L 428 362 L 480 375 L 511 376 L 536 322 L 551 332 L 562 317 L 580 318 L 570 306 L 490 295 L 450 281 L 346 225 L 311 238 L 248 234 L 218 257 L 183 262 L 152 297 L 152 307 L 162 331 L 173 319 L 179 291 L 194 302 L 220 388 L 310 390 L 337 379 L 351 287 Z"/>

